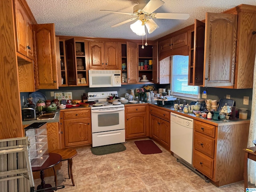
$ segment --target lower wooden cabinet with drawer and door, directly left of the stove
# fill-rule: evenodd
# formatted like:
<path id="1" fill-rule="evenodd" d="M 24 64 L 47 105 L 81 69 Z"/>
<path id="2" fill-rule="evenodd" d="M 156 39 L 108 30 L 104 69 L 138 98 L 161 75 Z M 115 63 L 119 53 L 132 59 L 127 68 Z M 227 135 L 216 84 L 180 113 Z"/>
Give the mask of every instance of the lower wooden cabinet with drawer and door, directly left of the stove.
<path id="1" fill-rule="evenodd" d="M 60 113 L 61 148 L 92 144 L 91 113 L 89 109 Z"/>

